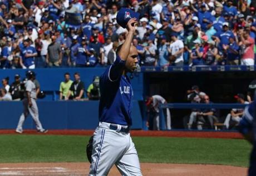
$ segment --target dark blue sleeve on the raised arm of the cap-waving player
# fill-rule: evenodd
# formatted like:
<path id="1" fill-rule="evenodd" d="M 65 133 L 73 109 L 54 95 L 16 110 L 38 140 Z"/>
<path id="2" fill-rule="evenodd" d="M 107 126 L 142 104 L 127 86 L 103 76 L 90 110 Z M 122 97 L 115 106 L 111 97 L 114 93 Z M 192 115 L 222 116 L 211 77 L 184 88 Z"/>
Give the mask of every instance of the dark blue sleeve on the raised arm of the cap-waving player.
<path id="1" fill-rule="evenodd" d="M 109 80 L 112 82 L 118 80 L 121 77 L 124 69 L 125 69 L 125 61 L 121 60 L 119 55 L 116 55 L 116 60 L 110 66 L 110 69 L 109 69 L 109 74 L 108 74 Z"/>

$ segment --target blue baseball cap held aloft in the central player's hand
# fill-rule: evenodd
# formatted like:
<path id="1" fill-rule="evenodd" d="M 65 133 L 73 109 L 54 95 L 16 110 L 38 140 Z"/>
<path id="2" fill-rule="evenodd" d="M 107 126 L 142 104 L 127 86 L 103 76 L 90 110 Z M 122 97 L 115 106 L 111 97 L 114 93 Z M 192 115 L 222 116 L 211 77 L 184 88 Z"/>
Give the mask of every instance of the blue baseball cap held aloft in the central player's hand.
<path id="1" fill-rule="evenodd" d="M 136 18 L 137 21 L 139 21 L 139 16 L 139 13 L 136 13 L 129 8 L 121 8 L 116 15 L 116 22 L 121 25 L 122 28 L 126 28 L 126 25 L 131 18 Z"/>

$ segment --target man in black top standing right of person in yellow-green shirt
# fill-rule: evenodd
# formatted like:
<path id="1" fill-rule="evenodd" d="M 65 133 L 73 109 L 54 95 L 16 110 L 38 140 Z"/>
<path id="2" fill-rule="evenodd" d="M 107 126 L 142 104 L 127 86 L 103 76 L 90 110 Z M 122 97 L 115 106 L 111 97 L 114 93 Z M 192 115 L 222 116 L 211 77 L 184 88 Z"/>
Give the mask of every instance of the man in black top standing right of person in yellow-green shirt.
<path id="1" fill-rule="evenodd" d="M 73 83 L 71 84 L 70 90 L 68 91 L 65 100 L 70 99 L 71 95 L 73 95 L 73 100 L 81 100 L 85 97 L 85 84 L 83 84 L 83 82 L 80 80 L 80 74 L 75 73 L 74 79 L 75 81 L 73 81 Z"/>

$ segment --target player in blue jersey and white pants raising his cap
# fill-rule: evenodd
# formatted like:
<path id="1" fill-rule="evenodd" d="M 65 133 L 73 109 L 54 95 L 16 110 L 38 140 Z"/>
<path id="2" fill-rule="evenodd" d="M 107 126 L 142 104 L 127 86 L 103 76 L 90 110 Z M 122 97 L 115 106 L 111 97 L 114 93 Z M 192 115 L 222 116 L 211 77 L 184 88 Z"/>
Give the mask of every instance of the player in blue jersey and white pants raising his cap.
<path id="1" fill-rule="evenodd" d="M 121 175 L 142 175 L 129 132 L 133 91 L 126 75 L 136 69 L 138 61 L 137 50 L 131 45 L 138 18 L 138 13 L 127 8 L 117 13 L 117 23 L 128 33 L 124 44 L 116 50 L 115 62 L 100 76 L 100 122 L 87 145 L 87 157 L 91 162 L 89 176 L 107 175 L 114 164 Z"/>

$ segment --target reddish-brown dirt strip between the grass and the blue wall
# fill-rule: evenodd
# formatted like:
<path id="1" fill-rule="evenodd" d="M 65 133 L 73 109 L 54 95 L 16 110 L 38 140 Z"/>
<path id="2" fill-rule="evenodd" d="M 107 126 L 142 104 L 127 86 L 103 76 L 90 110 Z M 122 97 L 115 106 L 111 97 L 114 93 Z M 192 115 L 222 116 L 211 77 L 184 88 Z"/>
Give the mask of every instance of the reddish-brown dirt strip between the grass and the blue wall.
<path id="1" fill-rule="evenodd" d="M 13 134 L 14 130 L 0 130 L 0 134 Z M 24 134 L 42 134 L 35 130 L 25 130 Z M 49 130 L 47 134 L 55 135 L 92 135 L 92 130 Z M 142 131 L 132 130 L 131 136 L 161 136 L 161 137 L 198 137 L 198 138 L 233 138 L 242 139 L 238 132 L 223 131 Z"/>

